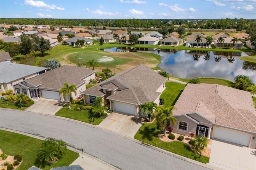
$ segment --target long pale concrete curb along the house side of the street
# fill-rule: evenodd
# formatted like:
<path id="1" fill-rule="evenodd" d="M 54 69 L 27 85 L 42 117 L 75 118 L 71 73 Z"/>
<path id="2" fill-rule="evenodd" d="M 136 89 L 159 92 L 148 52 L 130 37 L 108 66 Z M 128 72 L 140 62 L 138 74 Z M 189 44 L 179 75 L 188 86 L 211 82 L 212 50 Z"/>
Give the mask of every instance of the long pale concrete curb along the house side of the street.
<path id="1" fill-rule="evenodd" d="M 2 109 L 2 108 L 1 108 L 1 109 Z M 7 109 L 7 110 L 16 110 L 16 109 L 9 109 L 9 108 L 4 108 L 4 109 Z M 17 111 L 17 110 L 16 110 L 16 111 Z M 18 111 L 20 111 L 20 110 L 18 110 Z M 25 110 L 21 110 L 21 111 L 25 111 Z M 29 112 L 29 111 L 25 111 L 25 112 Z M 34 112 L 30 112 L 30 113 L 34 113 Z M 42 113 L 34 113 L 34 114 L 40 114 L 40 115 L 44 115 L 44 116 L 51 116 L 51 117 L 55 117 L 55 118 L 58 118 L 58 119 L 67 120 L 67 121 L 71 121 L 71 122 L 75 122 L 75 123 L 80 123 L 80 124 L 87 125 L 87 126 L 90 126 L 90 127 L 93 127 L 93 128 L 97 128 L 97 129 L 100 129 L 100 130 L 104 130 L 104 131 L 110 132 L 110 133 L 112 133 L 112 134 L 116 134 L 116 135 L 118 135 L 118 136 L 121 136 L 121 137 L 123 137 L 123 138 L 126 138 L 126 139 L 128 139 L 128 140 L 130 140 L 130 141 L 133 141 L 133 142 L 136 142 L 136 143 L 138 143 L 138 144 L 141 144 L 141 145 L 143 145 L 143 146 L 146 146 L 146 147 L 149 147 L 149 148 L 151 148 L 151 149 L 154 149 L 154 150 L 156 150 L 156 151 L 160 151 L 160 152 L 162 152 L 162 153 L 164 153 L 164 154 L 168 154 L 168 155 L 173 156 L 173 157 L 175 157 L 175 158 L 179 158 L 179 159 L 182 159 L 182 160 L 184 160 L 184 161 L 187 161 L 187 162 L 190 162 L 190 163 L 193 163 L 193 164 L 196 164 L 196 165 L 200 165 L 200 166 L 205 167 L 205 168 L 210 168 L 210 169 L 213 169 L 213 170 L 223 170 L 222 168 L 215 167 L 215 166 L 213 166 L 213 165 L 208 165 L 208 164 L 205 164 L 205 163 L 202 163 L 202 162 L 199 162 L 199 161 L 195 161 L 195 160 L 193 160 L 193 159 L 186 158 L 186 157 L 184 157 L 184 156 L 181 156 L 181 155 L 178 155 L 178 154 L 175 154 L 175 153 L 166 151 L 166 150 L 161 149 L 161 148 L 159 148 L 159 147 L 155 147 L 155 146 L 153 146 L 153 145 L 151 145 L 151 144 L 144 143 L 144 142 L 139 141 L 139 140 L 137 140 L 137 139 L 134 139 L 134 138 L 132 138 L 132 137 L 130 137 L 130 136 L 127 136 L 127 135 L 124 135 L 124 134 L 120 134 L 120 133 L 117 133 L 117 132 L 112 131 L 112 130 L 109 130 L 109 129 L 105 129 L 105 128 L 103 128 L 103 127 L 98 127 L 98 125 L 92 125 L 92 124 L 90 124 L 90 123 L 81 122 L 81 121 L 79 121 L 79 120 L 73 120 L 73 119 L 69 119 L 69 118 L 66 118 L 66 117 L 55 116 L 55 115 L 50 115 L 50 114 L 42 114 Z M 1 129 L 1 128 L 0 128 L 0 129 Z"/>

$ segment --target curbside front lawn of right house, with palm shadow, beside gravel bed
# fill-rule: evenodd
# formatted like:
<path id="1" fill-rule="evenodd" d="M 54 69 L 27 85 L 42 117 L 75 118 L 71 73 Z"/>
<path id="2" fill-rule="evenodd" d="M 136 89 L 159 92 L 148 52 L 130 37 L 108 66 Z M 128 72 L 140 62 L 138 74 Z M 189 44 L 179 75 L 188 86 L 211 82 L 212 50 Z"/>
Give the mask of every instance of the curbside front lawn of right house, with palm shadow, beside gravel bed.
<path id="1" fill-rule="evenodd" d="M 201 156 L 199 158 L 199 154 L 194 153 L 190 150 L 187 144 L 179 141 L 175 142 L 162 142 L 158 139 L 157 134 L 159 130 L 155 130 L 156 121 L 153 123 L 144 123 L 138 132 L 135 134 L 134 138 L 143 141 L 147 144 L 151 144 L 153 146 L 162 148 L 166 151 L 170 151 L 175 154 L 179 154 L 181 156 L 194 159 L 199 162 L 208 163 L 209 158 L 205 156 Z"/>

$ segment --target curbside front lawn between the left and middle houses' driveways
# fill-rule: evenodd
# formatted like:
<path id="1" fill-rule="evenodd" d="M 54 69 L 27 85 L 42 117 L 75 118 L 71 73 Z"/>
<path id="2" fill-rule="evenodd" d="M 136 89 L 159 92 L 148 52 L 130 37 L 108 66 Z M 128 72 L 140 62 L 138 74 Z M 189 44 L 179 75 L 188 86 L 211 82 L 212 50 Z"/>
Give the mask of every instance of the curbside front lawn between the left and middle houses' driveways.
<path id="1" fill-rule="evenodd" d="M 103 119 L 94 118 L 94 122 L 93 122 L 91 119 L 91 116 L 89 115 L 88 110 L 76 111 L 74 110 L 74 108 L 75 108 L 75 105 L 71 104 L 71 109 L 69 109 L 68 107 L 63 107 L 57 113 L 55 113 L 55 115 L 66 117 L 69 119 L 79 120 L 86 123 L 91 123 L 93 125 L 98 125 L 103 121 Z"/>

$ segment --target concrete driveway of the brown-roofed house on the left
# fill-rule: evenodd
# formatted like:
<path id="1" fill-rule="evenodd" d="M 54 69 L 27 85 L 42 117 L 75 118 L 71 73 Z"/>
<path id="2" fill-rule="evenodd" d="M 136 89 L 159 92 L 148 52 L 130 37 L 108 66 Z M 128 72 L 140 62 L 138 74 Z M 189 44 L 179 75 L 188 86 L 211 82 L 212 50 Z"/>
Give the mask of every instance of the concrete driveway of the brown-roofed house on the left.
<path id="1" fill-rule="evenodd" d="M 53 99 L 40 99 L 39 101 L 35 101 L 32 106 L 25 110 L 35 113 L 55 115 L 55 113 L 58 112 L 65 103 L 66 102 Z"/>

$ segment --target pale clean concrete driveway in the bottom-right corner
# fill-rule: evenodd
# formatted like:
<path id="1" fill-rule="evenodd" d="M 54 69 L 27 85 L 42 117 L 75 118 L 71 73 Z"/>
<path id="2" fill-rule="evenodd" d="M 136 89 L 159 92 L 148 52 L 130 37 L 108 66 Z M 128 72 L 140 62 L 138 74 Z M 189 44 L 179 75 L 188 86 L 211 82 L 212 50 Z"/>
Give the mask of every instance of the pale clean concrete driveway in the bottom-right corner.
<path id="1" fill-rule="evenodd" d="M 212 140 L 210 165 L 222 169 L 256 169 L 256 150 Z"/>

